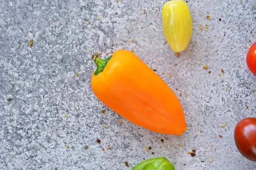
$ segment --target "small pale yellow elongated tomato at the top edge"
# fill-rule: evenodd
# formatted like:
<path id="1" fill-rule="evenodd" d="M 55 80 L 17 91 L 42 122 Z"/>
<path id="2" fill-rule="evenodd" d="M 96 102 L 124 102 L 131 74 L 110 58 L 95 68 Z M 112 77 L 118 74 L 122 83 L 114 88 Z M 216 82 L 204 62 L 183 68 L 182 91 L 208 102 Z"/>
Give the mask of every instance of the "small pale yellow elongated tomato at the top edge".
<path id="1" fill-rule="evenodd" d="M 183 0 L 171 0 L 163 5 L 163 34 L 172 50 L 186 49 L 192 35 L 192 18 Z"/>

